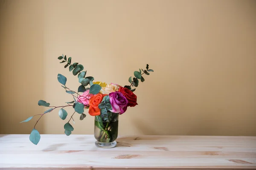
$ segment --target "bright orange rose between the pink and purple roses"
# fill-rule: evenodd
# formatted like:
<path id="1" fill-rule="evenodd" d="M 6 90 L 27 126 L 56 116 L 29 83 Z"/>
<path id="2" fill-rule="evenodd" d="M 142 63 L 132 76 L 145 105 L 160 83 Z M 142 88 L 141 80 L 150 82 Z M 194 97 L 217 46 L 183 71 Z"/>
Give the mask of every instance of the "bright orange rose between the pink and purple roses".
<path id="1" fill-rule="evenodd" d="M 102 99 L 104 96 L 107 96 L 107 94 L 96 94 L 95 96 L 92 96 L 89 100 L 89 114 L 90 116 L 99 116 L 100 115 L 100 109 L 99 104 L 102 102 Z"/>

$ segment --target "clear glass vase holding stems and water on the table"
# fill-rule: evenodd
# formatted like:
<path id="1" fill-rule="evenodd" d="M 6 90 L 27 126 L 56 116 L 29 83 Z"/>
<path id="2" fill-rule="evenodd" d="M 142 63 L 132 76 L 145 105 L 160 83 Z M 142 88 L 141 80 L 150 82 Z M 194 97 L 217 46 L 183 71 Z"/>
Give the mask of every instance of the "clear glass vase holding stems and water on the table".
<path id="1" fill-rule="evenodd" d="M 116 146 L 118 135 L 118 113 L 111 113 L 107 118 L 101 115 L 95 116 L 94 137 L 95 145 L 100 148 L 112 148 Z"/>

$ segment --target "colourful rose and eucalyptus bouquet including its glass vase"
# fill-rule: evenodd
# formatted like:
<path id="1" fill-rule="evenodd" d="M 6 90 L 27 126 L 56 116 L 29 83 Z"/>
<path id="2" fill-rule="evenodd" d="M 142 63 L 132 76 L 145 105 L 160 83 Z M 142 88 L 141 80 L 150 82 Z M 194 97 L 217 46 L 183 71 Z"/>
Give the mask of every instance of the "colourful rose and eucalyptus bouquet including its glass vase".
<path id="1" fill-rule="evenodd" d="M 42 114 L 34 115 L 39 116 L 39 118 L 35 122 L 29 140 L 33 144 L 38 144 L 40 141 L 40 133 L 35 127 L 42 116 L 59 108 L 60 110 L 58 114 L 61 119 L 65 120 L 67 118 L 67 111 L 64 108 L 73 107 L 74 112 L 68 122 L 64 125 L 64 133 L 67 136 L 74 130 L 73 126 L 70 124 L 73 115 L 79 113 L 80 120 L 83 120 L 86 117 L 84 111 L 88 110 L 88 113 L 91 116 L 95 116 L 94 136 L 97 140 L 96 145 L 98 147 L 100 147 L 100 144 L 106 145 L 108 143 L 112 144 L 111 146 L 115 145 L 116 143 L 113 142 L 115 142 L 117 138 L 118 116 L 125 113 L 128 107 L 137 105 L 137 96 L 134 94 L 135 88 L 132 89 L 132 87 L 138 87 L 139 79 L 141 82 L 145 81 L 142 75 L 149 75 L 149 72 L 153 72 L 153 70 L 149 69 L 147 64 L 146 69 L 134 71 L 134 77 L 128 79 L 130 85 L 122 87 L 113 83 L 106 84 L 105 82 L 94 82 L 93 77 L 86 77 L 87 71 L 83 71 L 83 65 L 78 62 L 71 63 L 71 57 L 67 59 L 66 55 L 62 55 L 58 57 L 58 59 L 63 59 L 60 63 L 66 63 L 64 68 L 69 67 L 69 71 L 72 71 L 73 75 L 78 77 L 81 85 L 78 87 L 77 92 L 73 91 L 66 85 L 67 78 L 58 74 L 58 82 L 62 84 L 61 86 L 65 89 L 66 93 L 73 96 L 73 101 L 66 102 L 67 105 L 63 106 L 51 106 L 50 103 L 44 100 L 39 100 L 39 106 L 48 107 L 49 109 Z M 23 122 L 28 122 L 34 116 L 29 117 Z"/>

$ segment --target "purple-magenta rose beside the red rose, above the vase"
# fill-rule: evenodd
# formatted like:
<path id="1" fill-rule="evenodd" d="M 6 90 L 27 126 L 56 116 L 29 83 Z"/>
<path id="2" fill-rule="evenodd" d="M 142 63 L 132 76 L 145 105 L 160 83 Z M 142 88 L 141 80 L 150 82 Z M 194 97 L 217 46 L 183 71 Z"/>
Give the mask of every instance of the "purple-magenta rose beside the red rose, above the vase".
<path id="1" fill-rule="evenodd" d="M 111 112 L 119 114 L 125 113 L 128 105 L 128 100 L 121 92 L 115 91 L 110 93 L 109 101 L 112 106 Z"/>

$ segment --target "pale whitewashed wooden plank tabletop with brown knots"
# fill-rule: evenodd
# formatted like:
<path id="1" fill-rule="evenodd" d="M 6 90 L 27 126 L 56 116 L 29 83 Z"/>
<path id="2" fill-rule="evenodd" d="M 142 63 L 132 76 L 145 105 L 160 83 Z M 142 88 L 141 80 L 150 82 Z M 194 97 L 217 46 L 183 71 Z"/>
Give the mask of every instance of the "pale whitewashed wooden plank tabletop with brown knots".
<path id="1" fill-rule="evenodd" d="M 256 169 L 256 137 L 119 136 L 101 149 L 92 135 L 0 135 L 0 169 Z"/>

